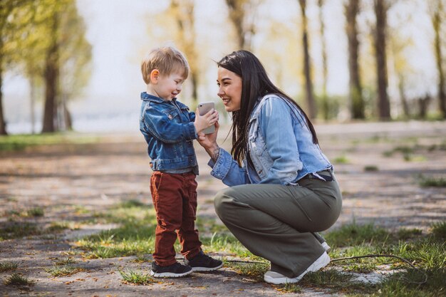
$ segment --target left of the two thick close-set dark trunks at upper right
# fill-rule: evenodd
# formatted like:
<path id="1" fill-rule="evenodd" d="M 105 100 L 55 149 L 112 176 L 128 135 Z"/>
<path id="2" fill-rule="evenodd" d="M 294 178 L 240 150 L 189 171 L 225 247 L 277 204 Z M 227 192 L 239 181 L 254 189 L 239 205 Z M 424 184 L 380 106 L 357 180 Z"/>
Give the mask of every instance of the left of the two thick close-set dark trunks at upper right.
<path id="1" fill-rule="evenodd" d="M 351 118 L 353 119 L 365 118 L 363 88 L 359 72 L 358 23 L 356 21 L 359 13 L 359 1 L 349 0 L 345 6 L 346 33 L 348 38 L 348 73 L 350 75 L 348 80 L 348 99 Z"/>

